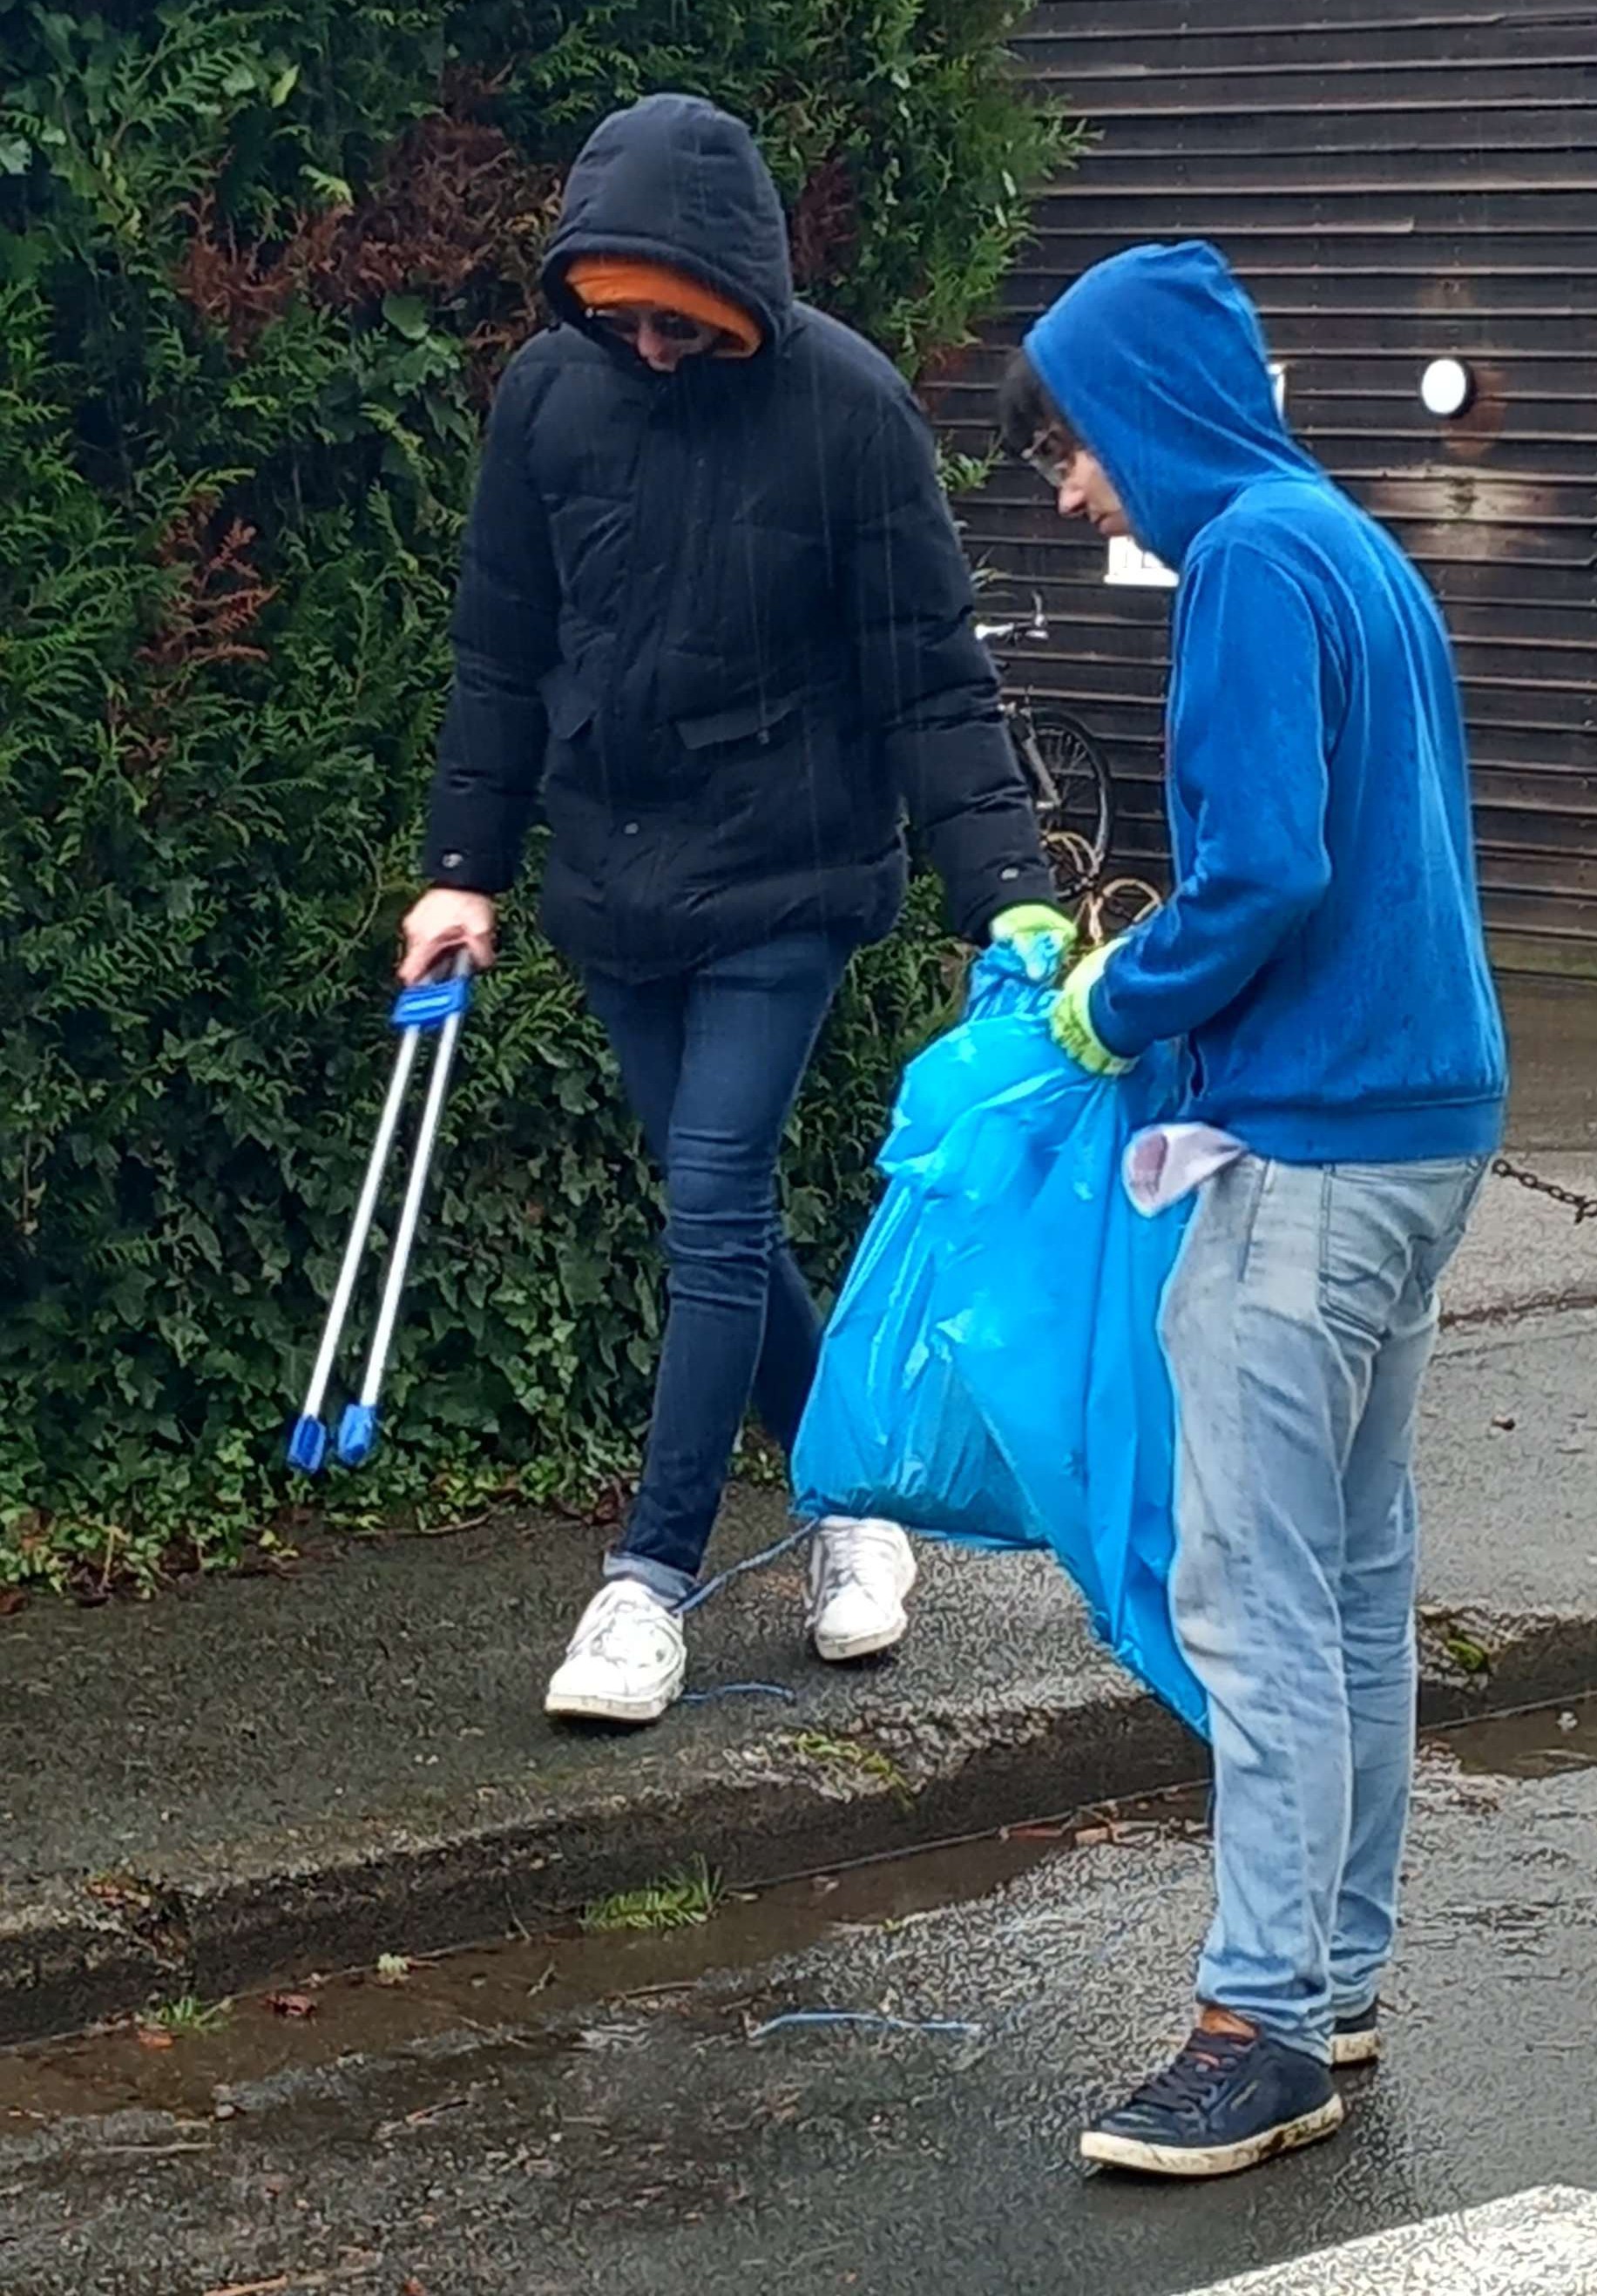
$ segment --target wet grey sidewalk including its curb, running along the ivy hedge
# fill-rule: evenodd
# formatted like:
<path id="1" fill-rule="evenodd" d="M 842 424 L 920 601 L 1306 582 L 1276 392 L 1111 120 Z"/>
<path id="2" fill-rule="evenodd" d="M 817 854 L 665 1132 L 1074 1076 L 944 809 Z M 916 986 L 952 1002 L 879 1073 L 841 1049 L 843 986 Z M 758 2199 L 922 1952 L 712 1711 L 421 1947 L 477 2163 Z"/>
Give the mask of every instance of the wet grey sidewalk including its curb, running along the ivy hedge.
<path id="1" fill-rule="evenodd" d="M 1514 1123 L 1579 1187 L 1597 1107 L 1563 1047 L 1588 1006 L 1540 992 Z M 1537 1146 L 1558 1137 L 1576 1146 Z M 1597 1688 L 1597 1309 L 1549 1300 L 1597 1302 L 1597 1226 L 1491 1180 L 1425 1410 L 1432 1717 Z M 774 1495 L 740 1495 L 715 1561 L 784 1529 Z M 542 1678 L 602 1543 L 515 1520 L 0 1621 L 0 2039 L 499 1936 L 692 1855 L 765 1880 L 1202 1766 L 1052 1561 L 947 1550 L 887 1665 L 807 1653 L 790 1554 L 692 1623 L 694 1692 L 765 1688 L 643 1738 L 556 1731 Z"/>

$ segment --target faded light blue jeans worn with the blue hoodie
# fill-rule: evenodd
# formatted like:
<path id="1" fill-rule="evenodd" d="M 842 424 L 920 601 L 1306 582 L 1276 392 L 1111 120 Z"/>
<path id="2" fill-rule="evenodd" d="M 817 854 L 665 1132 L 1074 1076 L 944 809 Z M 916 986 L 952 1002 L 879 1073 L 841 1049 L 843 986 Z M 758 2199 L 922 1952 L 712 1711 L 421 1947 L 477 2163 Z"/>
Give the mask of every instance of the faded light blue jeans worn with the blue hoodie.
<path id="1" fill-rule="evenodd" d="M 1209 1692 L 1218 1910 L 1197 1993 L 1310 2057 L 1397 1926 L 1415 1738 L 1413 1437 L 1484 1162 L 1204 1187 L 1170 1279 L 1172 1605 Z"/>

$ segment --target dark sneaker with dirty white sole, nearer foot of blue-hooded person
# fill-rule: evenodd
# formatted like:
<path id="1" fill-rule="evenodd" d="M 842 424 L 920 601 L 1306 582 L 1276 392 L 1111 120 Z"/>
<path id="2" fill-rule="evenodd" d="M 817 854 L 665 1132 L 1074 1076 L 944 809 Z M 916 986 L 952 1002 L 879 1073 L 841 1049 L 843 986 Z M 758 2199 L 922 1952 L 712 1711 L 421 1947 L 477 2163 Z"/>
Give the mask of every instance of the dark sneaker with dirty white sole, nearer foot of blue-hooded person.
<path id="1" fill-rule="evenodd" d="M 1342 2126 L 1330 2069 L 1268 2034 L 1195 2032 L 1156 2080 L 1082 2135 L 1082 2161 L 1232 2177 Z"/>

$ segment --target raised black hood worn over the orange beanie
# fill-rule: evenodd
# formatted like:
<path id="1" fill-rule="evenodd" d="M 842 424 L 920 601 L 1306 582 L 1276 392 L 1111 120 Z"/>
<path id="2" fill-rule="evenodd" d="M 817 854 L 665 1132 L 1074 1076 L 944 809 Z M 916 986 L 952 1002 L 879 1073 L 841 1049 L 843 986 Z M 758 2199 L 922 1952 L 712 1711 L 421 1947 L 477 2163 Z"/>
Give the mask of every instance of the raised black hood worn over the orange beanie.
<path id="1" fill-rule="evenodd" d="M 685 271 L 761 321 L 774 342 L 793 312 L 788 223 L 742 119 L 701 96 L 646 96 L 611 113 L 577 154 L 542 287 L 584 326 L 565 273 L 577 257 L 625 255 Z"/>

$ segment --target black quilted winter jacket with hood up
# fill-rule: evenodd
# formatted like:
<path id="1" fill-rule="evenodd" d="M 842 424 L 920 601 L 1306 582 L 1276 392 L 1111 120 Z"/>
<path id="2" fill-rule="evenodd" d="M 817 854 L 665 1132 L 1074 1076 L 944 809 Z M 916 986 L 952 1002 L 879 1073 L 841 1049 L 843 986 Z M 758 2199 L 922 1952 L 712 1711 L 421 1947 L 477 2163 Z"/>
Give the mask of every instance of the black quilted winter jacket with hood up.
<path id="1" fill-rule="evenodd" d="M 653 374 L 588 326 L 579 255 L 689 273 L 761 351 Z M 931 436 L 878 351 L 795 303 L 749 131 L 692 96 L 607 119 L 545 292 L 563 324 L 506 370 L 466 530 L 430 882 L 501 893 L 542 813 L 549 939 L 627 978 L 880 939 L 905 813 L 967 939 L 1050 900 Z"/>

